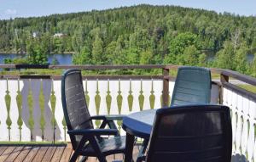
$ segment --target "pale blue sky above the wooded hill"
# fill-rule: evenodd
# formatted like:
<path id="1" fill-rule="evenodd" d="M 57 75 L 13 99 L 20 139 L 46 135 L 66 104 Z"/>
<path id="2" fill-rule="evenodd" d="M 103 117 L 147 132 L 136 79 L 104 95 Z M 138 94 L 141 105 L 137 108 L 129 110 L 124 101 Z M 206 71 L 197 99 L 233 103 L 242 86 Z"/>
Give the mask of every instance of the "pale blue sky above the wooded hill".
<path id="1" fill-rule="evenodd" d="M 256 16 L 256 0 L 0 0 L 0 20 L 119 8 L 142 3 Z"/>

